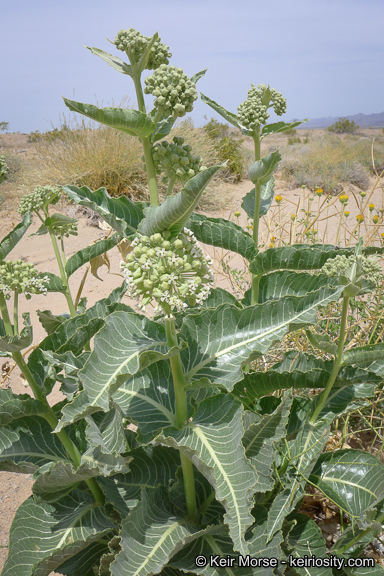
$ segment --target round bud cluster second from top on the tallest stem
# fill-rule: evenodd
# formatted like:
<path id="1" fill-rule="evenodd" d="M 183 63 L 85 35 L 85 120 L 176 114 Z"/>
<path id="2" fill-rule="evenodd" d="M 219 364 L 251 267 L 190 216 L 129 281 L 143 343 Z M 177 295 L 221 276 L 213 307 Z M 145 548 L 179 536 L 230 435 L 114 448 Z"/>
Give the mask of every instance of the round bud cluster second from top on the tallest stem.
<path id="1" fill-rule="evenodd" d="M 197 100 L 196 86 L 181 68 L 161 64 L 144 83 L 145 94 L 155 97 L 154 106 L 159 112 L 174 118 L 192 112 Z"/>

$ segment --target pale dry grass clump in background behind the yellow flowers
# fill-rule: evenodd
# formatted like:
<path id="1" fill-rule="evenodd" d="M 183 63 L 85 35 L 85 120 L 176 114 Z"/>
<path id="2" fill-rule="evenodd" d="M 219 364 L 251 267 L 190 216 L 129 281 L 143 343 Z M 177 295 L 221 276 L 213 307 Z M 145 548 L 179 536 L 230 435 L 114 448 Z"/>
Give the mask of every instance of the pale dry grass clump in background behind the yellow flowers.
<path id="1" fill-rule="evenodd" d="M 337 194 L 349 183 L 360 190 L 369 187 L 369 174 L 384 169 L 384 139 L 374 144 L 360 136 L 321 135 L 307 143 L 295 143 L 282 150 L 281 175 L 293 188 L 320 186 L 328 194 Z"/>

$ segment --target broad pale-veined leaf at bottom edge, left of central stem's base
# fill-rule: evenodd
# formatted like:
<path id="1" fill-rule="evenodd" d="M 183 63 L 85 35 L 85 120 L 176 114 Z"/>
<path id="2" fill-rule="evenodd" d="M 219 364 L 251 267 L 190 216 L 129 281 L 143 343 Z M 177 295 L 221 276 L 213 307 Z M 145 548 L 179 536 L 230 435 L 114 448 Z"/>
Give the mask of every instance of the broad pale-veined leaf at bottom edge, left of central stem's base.
<path id="1" fill-rule="evenodd" d="M 195 537 L 196 528 L 175 514 L 164 488 L 143 490 L 139 504 L 122 522 L 121 551 L 112 576 L 156 574 Z"/>

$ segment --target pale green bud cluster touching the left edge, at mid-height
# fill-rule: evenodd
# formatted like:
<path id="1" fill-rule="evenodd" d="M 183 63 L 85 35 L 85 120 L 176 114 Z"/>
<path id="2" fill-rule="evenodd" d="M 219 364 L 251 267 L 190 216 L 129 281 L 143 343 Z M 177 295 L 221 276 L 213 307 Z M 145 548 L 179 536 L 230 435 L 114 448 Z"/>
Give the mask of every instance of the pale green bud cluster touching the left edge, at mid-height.
<path id="1" fill-rule="evenodd" d="M 0 264 L 0 290 L 9 298 L 9 292 L 17 290 L 19 294 L 46 294 L 48 276 L 39 277 L 39 273 L 33 264 L 27 264 L 23 260 L 2 262 Z"/>

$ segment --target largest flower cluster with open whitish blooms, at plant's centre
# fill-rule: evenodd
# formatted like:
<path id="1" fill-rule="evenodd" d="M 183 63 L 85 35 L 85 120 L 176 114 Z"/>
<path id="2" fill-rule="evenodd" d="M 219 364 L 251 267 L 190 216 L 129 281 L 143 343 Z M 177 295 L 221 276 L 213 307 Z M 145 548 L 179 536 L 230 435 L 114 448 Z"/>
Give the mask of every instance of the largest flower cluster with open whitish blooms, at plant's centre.
<path id="1" fill-rule="evenodd" d="M 128 293 L 141 300 L 143 310 L 155 300 L 156 310 L 168 315 L 185 310 L 188 304 L 201 305 L 209 296 L 212 260 L 187 228 L 176 237 L 169 231 L 136 237 L 131 246 L 133 250 L 121 269 Z"/>

